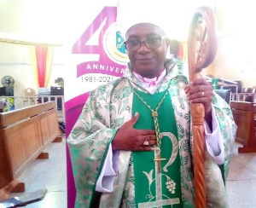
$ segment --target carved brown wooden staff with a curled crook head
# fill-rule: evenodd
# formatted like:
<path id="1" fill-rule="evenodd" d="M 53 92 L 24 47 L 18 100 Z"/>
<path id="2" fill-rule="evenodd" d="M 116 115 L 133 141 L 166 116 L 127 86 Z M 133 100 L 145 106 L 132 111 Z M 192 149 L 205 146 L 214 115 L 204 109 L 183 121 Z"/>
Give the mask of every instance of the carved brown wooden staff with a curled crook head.
<path id="1" fill-rule="evenodd" d="M 203 68 L 209 66 L 216 55 L 218 39 L 216 34 L 216 18 L 212 9 L 201 7 L 196 9 L 192 18 L 189 39 L 189 80 L 200 78 Z M 207 191 L 205 176 L 205 139 L 203 121 L 205 109 L 203 104 L 191 105 L 193 123 L 195 207 L 207 207 Z"/>

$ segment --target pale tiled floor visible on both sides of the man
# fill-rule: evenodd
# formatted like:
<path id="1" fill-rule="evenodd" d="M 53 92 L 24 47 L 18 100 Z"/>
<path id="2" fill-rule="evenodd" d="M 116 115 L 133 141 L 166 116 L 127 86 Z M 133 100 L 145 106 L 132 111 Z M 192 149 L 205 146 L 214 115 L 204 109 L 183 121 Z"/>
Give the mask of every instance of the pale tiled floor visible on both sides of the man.
<path id="1" fill-rule="evenodd" d="M 238 154 L 235 143 L 234 155 L 226 184 L 230 208 L 256 207 L 256 153 Z M 47 147 L 49 159 L 35 160 L 19 177 L 26 182 L 26 192 L 47 188 L 44 199 L 26 205 L 27 208 L 66 208 L 66 144 L 51 143 Z"/>

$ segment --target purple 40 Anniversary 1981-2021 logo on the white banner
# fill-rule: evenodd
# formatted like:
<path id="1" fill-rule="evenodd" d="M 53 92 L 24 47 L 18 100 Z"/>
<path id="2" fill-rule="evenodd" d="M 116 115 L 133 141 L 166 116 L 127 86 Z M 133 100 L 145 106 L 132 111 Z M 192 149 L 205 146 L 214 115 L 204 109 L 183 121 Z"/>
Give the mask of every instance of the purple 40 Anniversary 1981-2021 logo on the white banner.
<path id="1" fill-rule="evenodd" d="M 116 7 L 105 7 L 91 22 L 90 26 L 73 44 L 73 54 L 99 55 L 97 61 L 84 61 L 77 64 L 77 78 L 93 90 L 100 84 L 113 81 L 125 73 L 128 56 L 124 38 L 116 23 Z M 91 43 L 92 37 L 98 37 Z"/>

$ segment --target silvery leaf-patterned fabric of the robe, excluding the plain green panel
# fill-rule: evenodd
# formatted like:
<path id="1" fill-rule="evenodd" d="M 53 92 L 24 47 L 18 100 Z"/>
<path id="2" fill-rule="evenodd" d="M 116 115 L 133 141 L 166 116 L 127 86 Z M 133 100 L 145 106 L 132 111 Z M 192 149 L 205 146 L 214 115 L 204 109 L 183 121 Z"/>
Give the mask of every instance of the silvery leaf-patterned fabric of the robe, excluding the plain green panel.
<path id="1" fill-rule="evenodd" d="M 166 77 L 155 94 L 168 89 L 166 99 L 170 99 L 172 102 L 176 118 L 177 135 L 174 137 L 177 139 L 177 159 L 179 159 L 178 164 L 180 165 L 176 169 L 177 175 L 180 176 L 180 184 L 177 184 L 177 187 L 181 188 L 179 198 L 182 203 L 180 207 L 195 207 L 193 135 L 190 131 L 189 102 L 184 92 L 189 83 L 186 77 L 174 70 L 177 67 L 174 67 L 175 63 L 172 60 L 166 60 L 165 66 Z M 134 116 L 133 100 L 136 96 L 134 89 L 148 93 L 133 76 L 131 66 L 128 64 L 124 77 L 91 91 L 77 123 L 68 136 L 67 143 L 77 189 L 75 207 L 90 207 L 108 147 L 120 126 Z M 145 107 L 143 103 L 141 105 Z M 224 180 L 227 176 L 232 145 L 235 141 L 236 124 L 229 105 L 222 98 L 214 94 L 212 105 L 224 139 L 225 158 L 224 165 L 219 166 L 206 152 L 207 207 L 228 207 Z M 168 117 L 168 115 L 165 116 Z M 114 180 L 113 192 L 102 194 L 100 207 L 137 207 L 133 157 L 133 153 L 129 151 L 119 151 L 119 173 Z M 147 172 L 147 174 L 145 175 L 149 178 L 151 173 Z"/>

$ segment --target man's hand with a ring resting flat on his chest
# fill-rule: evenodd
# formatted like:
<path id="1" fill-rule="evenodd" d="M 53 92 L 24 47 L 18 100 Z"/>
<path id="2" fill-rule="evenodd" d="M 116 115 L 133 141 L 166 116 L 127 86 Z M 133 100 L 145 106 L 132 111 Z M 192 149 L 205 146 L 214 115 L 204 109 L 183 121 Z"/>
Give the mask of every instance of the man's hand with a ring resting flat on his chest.
<path id="1" fill-rule="evenodd" d="M 155 130 L 136 130 L 133 125 L 137 123 L 139 113 L 131 120 L 123 124 L 113 138 L 113 150 L 128 150 L 128 151 L 152 151 L 153 145 L 156 144 Z M 145 145 L 144 142 L 148 142 Z"/>

